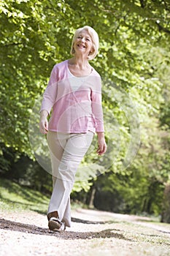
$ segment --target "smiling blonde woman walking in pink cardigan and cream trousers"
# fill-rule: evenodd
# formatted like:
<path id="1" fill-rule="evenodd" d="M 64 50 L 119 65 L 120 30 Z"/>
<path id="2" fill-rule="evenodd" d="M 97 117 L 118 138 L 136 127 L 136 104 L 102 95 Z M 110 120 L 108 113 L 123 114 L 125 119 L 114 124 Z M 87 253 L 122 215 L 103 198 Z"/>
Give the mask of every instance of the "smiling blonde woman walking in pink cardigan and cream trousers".
<path id="1" fill-rule="evenodd" d="M 98 53 L 98 34 L 84 26 L 72 39 L 72 59 L 56 64 L 42 99 L 39 129 L 47 134 L 53 194 L 47 211 L 50 230 L 71 226 L 70 193 L 77 167 L 98 135 L 99 155 L 107 150 L 101 107 L 101 78 L 89 60 Z M 47 116 L 53 108 L 48 124 Z"/>

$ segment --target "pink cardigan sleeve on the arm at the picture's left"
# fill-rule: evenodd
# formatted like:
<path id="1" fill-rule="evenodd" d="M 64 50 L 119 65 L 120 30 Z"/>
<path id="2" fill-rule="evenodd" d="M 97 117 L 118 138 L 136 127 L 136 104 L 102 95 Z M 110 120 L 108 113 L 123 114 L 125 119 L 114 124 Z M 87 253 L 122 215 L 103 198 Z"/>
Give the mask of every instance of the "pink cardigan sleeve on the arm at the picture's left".
<path id="1" fill-rule="evenodd" d="M 40 112 L 42 110 L 47 110 L 47 113 L 50 114 L 50 110 L 53 108 L 53 105 L 55 104 L 56 96 L 57 96 L 57 70 L 55 67 L 53 67 L 50 75 L 50 80 L 43 94 Z"/>

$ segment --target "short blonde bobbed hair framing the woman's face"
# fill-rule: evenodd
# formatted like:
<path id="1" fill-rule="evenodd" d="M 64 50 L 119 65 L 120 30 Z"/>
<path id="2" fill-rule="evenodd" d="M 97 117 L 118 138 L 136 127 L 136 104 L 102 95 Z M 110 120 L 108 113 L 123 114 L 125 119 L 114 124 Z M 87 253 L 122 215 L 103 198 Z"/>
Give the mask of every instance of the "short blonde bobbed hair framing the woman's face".
<path id="1" fill-rule="evenodd" d="M 98 39 L 97 32 L 93 28 L 91 28 L 90 26 L 83 26 L 82 28 L 77 29 L 75 31 L 73 39 L 72 39 L 72 47 L 71 47 L 70 53 L 72 55 L 74 55 L 74 53 L 75 53 L 74 42 L 75 42 L 78 34 L 80 34 L 83 30 L 88 31 L 88 34 L 90 34 L 90 37 L 91 37 L 92 42 L 93 42 L 93 49 L 94 50 L 93 50 L 92 53 L 89 53 L 89 56 L 88 56 L 88 59 L 91 60 L 91 59 L 94 59 L 96 57 L 97 53 L 98 53 L 99 39 Z"/>

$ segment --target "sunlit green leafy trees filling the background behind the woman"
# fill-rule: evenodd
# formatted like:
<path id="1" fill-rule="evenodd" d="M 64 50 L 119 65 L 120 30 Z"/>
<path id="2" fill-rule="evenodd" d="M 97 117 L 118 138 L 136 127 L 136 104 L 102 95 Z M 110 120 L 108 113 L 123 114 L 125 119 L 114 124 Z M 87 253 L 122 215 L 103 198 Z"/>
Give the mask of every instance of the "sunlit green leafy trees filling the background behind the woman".
<path id="1" fill-rule="evenodd" d="M 170 222 L 168 0 L 1 1 L 1 176 L 51 192 L 50 174 L 34 161 L 28 122 L 53 65 L 70 58 L 74 30 L 85 25 L 100 38 L 100 52 L 91 64 L 104 78 L 104 121 L 112 147 L 107 157 L 96 160 L 96 170 L 109 162 L 105 173 L 77 182 L 72 198 L 107 211 L 157 214 Z M 117 93 L 119 89 L 123 93 Z M 126 95 L 134 102 L 137 120 L 122 97 Z M 139 151 L 123 169 L 138 128 Z M 138 143 L 134 140 L 134 148 Z M 94 158 L 88 154 L 85 162 Z"/>

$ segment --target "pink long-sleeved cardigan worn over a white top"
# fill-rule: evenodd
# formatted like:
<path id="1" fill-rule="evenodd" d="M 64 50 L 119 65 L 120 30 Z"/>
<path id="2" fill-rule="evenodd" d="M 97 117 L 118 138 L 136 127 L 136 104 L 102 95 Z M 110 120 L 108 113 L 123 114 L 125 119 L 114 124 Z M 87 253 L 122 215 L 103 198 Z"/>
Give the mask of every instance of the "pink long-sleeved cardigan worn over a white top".
<path id="1" fill-rule="evenodd" d="M 72 91 L 70 79 L 68 60 L 53 67 L 40 110 L 47 110 L 50 114 L 53 108 L 49 130 L 104 132 L 100 75 L 93 69 L 89 76 L 82 77 L 82 84 L 77 91 Z"/>

